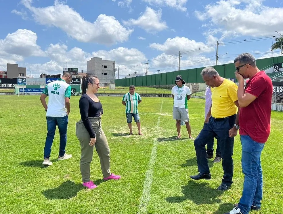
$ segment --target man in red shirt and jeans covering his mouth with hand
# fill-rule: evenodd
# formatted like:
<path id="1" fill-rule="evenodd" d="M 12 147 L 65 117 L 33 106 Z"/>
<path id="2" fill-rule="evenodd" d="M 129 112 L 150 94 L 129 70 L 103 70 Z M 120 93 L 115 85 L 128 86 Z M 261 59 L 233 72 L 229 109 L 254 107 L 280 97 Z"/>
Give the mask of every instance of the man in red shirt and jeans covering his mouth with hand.
<path id="1" fill-rule="evenodd" d="M 243 53 L 234 60 L 240 108 L 239 125 L 242 144 L 242 170 L 244 188 L 242 197 L 234 209 L 225 214 L 248 214 L 261 209 L 262 169 L 261 151 L 270 134 L 272 82 L 264 71 L 260 71 L 255 58 Z M 249 81 L 244 88 L 244 78 Z"/>

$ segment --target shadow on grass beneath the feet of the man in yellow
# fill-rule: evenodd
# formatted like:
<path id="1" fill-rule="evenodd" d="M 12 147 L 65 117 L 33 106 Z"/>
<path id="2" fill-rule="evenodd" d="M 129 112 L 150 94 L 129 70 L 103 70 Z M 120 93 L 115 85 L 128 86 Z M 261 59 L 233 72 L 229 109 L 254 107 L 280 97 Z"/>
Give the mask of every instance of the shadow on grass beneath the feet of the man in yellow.
<path id="1" fill-rule="evenodd" d="M 218 198 L 223 194 L 223 191 L 212 189 L 208 183 L 196 183 L 188 181 L 188 185 L 182 187 L 184 196 L 168 197 L 165 200 L 169 203 L 181 203 L 185 200 L 190 200 L 195 204 L 215 204 L 220 203 Z"/>

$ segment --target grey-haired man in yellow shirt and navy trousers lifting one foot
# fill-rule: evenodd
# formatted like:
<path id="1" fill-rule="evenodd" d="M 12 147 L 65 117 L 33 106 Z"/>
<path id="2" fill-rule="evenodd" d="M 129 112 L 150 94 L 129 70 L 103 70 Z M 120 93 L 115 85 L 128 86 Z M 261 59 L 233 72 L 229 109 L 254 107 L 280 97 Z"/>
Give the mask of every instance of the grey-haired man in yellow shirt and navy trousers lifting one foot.
<path id="1" fill-rule="evenodd" d="M 205 145 L 217 136 L 224 171 L 222 183 L 217 189 L 227 190 L 233 183 L 234 136 L 238 134 L 240 128 L 238 86 L 234 82 L 219 76 L 213 67 L 204 68 L 200 74 L 206 85 L 211 87 L 212 106 L 206 116 L 202 130 L 194 140 L 199 174 L 190 177 L 194 180 L 211 179 Z"/>

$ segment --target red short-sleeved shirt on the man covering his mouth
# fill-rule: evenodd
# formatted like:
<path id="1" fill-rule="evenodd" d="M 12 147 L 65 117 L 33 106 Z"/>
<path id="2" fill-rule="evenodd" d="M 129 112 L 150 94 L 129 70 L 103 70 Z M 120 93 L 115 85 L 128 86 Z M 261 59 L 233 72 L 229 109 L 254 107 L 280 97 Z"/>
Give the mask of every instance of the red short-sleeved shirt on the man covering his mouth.
<path id="1" fill-rule="evenodd" d="M 255 74 L 247 83 L 245 93 L 257 98 L 240 108 L 240 135 L 248 135 L 254 141 L 265 143 L 270 134 L 272 82 L 264 71 Z"/>

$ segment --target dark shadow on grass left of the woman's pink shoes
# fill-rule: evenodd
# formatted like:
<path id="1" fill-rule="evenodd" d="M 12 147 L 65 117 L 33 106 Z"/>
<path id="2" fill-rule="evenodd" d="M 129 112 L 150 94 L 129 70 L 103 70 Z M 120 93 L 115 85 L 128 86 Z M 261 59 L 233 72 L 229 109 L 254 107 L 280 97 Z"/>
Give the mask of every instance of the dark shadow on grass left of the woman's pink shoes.
<path id="1" fill-rule="evenodd" d="M 73 181 L 65 181 L 59 187 L 42 192 L 48 199 L 69 199 L 77 195 L 83 189 L 82 183 L 75 184 Z"/>

